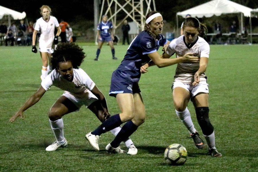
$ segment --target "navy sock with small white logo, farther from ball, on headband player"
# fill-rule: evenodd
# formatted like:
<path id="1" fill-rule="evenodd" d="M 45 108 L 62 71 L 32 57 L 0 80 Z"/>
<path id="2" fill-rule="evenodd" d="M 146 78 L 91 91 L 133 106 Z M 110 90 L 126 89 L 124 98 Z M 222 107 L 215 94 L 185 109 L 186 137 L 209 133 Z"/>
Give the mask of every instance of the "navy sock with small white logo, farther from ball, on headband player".
<path id="1" fill-rule="evenodd" d="M 120 126 L 121 124 L 122 121 L 120 119 L 120 116 L 119 114 L 116 114 L 105 120 L 105 122 L 103 122 L 96 130 L 91 132 L 91 134 L 100 136 L 100 134 L 110 131 Z"/>

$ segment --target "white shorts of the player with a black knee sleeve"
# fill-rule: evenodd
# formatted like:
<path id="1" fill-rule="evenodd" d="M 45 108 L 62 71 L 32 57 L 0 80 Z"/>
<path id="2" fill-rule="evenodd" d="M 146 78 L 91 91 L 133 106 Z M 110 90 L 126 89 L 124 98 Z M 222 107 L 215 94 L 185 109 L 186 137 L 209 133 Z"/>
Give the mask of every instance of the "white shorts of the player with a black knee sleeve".
<path id="1" fill-rule="evenodd" d="M 180 81 L 175 81 L 173 82 L 172 89 L 176 87 L 182 87 L 187 91 L 189 91 L 189 93 L 191 94 L 191 97 L 194 97 L 198 93 L 209 93 L 208 86 L 209 85 L 206 83 L 206 81 L 200 81 L 198 85 L 185 84 Z"/>

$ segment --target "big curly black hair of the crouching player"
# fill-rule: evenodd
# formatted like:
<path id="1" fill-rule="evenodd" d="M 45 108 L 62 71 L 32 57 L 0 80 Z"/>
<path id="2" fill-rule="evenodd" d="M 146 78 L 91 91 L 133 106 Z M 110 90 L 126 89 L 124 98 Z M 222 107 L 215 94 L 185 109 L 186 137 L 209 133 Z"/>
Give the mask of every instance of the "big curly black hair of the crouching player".
<path id="1" fill-rule="evenodd" d="M 75 43 L 64 42 L 58 44 L 56 50 L 52 53 L 52 58 L 50 58 L 50 63 L 52 64 L 52 69 L 58 69 L 59 62 L 71 61 L 74 69 L 78 69 L 83 59 L 86 57 L 83 48 L 79 47 Z"/>

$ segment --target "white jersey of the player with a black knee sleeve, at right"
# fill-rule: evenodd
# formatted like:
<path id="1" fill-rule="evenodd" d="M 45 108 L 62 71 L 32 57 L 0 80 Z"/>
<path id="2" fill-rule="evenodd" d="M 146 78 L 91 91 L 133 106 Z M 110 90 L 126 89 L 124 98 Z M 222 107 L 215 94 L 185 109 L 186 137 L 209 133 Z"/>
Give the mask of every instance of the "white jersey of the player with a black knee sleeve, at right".
<path id="1" fill-rule="evenodd" d="M 196 43 L 192 46 L 187 46 L 185 43 L 184 35 L 172 40 L 167 48 L 167 54 L 172 56 L 176 53 L 176 57 L 183 56 L 184 54 L 191 52 L 196 57 L 207 57 L 209 58 L 210 46 L 201 37 L 198 36 Z M 191 84 L 194 81 L 194 74 L 198 71 L 200 63 L 178 63 L 175 73 L 175 81 L 180 81 L 186 84 Z M 205 73 L 200 75 L 200 81 L 206 81 Z"/>

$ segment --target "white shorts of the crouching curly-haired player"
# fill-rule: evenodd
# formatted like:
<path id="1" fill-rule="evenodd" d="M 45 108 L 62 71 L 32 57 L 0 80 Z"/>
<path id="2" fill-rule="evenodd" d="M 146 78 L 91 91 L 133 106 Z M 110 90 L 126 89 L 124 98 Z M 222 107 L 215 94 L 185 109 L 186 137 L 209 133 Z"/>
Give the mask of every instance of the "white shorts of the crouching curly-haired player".
<path id="1" fill-rule="evenodd" d="M 89 105 L 91 105 L 91 103 L 98 100 L 98 98 L 89 90 L 78 95 L 72 95 L 70 92 L 64 91 L 63 96 L 71 100 L 78 107 L 78 110 L 81 108 L 82 105 L 88 107 Z"/>

